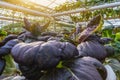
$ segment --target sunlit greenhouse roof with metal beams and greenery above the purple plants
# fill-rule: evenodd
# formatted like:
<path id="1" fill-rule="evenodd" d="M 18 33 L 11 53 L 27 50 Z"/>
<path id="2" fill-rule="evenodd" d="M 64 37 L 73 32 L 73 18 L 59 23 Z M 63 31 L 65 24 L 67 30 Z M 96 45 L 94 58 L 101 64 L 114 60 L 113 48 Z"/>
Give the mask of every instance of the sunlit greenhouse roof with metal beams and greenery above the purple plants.
<path id="1" fill-rule="evenodd" d="M 93 16 L 96 12 L 97 14 L 101 13 L 105 20 L 120 19 L 119 0 L 111 0 L 111 2 L 105 3 L 104 1 L 98 0 L 98 4 L 94 3 L 94 5 L 89 3 L 89 1 L 94 0 L 87 0 L 89 3 L 87 5 L 85 1 L 86 0 L 0 0 L 0 19 L 21 21 L 24 17 L 30 18 L 30 20 L 40 20 L 45 17 L 61 21 L 67 17 L 66 20 L 68 22 L 70 19 L 79 19 L 79 22 L 84 22 L 87 21 L 83 19 L 84 16 L 82 13 L 84 12 L 86 12 L 86 14 L 84 14 L 86 16 L 87 13 L 89 16 Z M 91 15 L 89 13 L 91 13 Z"/>

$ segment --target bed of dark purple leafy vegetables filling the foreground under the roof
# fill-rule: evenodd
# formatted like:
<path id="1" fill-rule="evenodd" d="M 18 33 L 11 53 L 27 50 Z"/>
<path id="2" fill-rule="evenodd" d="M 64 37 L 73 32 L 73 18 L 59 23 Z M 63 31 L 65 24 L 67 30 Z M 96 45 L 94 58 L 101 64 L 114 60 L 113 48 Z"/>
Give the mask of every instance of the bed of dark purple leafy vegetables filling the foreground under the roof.
<path id="1" fill-rule="evenodd" d="M 67 32 L 45 32 L 50 21 L 41 26 L 25 18 L 24 23 L 25 32 L 0 43 L 1 75 L 23 76 L 17 76 L 19 80 L 107 80 L 111 76 L 105 65 L 110 65 L 114 79 L 120 80 L 120 33 L 103 27 L 101 15 L 91 19 L 77 38 Z"/>

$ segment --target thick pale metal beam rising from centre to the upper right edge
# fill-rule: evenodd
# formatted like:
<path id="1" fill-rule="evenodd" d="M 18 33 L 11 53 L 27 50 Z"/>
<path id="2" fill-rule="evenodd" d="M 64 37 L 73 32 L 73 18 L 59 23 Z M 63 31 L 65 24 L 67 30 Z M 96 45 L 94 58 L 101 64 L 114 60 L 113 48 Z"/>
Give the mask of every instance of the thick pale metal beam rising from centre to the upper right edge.
<path id="1" fill-rule="evenodd" d="M 111 7 L 117 7 L 117 6 L 120 6 L 120 2 L 115 2 L 115 3 L 110 3 L 110 4 L 104 4 L 104 5 L 94 6 L 94 7 L 91 7 L 89 9 L 80 8 L 80 9 L 71 10 L 71 11 L 64 11 L 64 12 L 52 14 L 51 16 L 52 17 L 57 17 L 57 16 L 63 16 L 63 15 L 68 15 L 68 14 L 74 14 L 74 13 L 84 12 L 84 11 L 93 11 L 93 10 L 97 10 L 97 9 L 111 8 Z"/>

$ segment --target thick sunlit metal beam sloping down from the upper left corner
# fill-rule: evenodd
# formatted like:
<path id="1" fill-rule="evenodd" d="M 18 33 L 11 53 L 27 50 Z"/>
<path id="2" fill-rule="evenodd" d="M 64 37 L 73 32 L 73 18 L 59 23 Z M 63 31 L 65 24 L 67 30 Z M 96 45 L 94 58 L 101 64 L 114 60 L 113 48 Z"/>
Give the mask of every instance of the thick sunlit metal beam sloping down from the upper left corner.
<path id="1" fill-rule="evenodd" d="M 49 14 L 39 12 L 39 11 L 35 11 L 35 10 L 31 10 L 31 9 L 28 9 L 28 8 L 25 8 L 25 7 L 22 7 L 22 6 L 17 6 L 17 5 L 10 4 L 10 3 L 7 3 L 7 2 L 3 2 L 3 1 L 0 1 L 0 7 L 12 9 L 12 10 L 15 10 L 15 11 L 21 11 L 21 12 L 24 12 L 24 13 L 29 13 L 31 15 L 50 17 Z"/>

